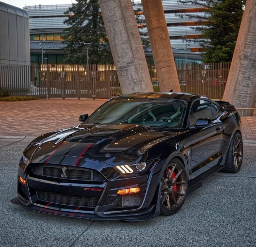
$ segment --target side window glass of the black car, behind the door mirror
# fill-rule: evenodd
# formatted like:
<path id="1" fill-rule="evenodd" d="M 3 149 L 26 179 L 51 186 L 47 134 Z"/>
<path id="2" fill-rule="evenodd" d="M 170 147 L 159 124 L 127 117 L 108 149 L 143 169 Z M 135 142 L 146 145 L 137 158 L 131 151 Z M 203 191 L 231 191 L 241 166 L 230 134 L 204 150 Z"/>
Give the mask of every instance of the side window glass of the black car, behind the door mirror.
<path id="1" fill-rule="evenodd" d="M 220 112 L 216 107 L 218 106 L 209 101 L 196 100 L 191 106 L 188 125 L 195 125 L 199 118 L 213 119 Z"/>

